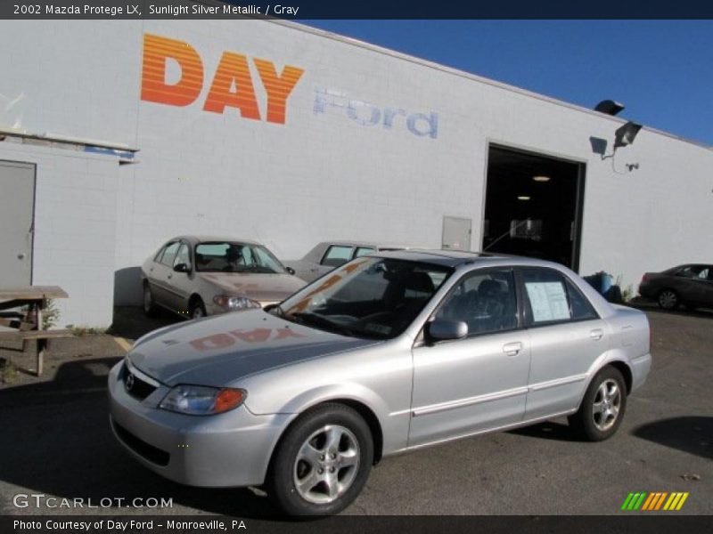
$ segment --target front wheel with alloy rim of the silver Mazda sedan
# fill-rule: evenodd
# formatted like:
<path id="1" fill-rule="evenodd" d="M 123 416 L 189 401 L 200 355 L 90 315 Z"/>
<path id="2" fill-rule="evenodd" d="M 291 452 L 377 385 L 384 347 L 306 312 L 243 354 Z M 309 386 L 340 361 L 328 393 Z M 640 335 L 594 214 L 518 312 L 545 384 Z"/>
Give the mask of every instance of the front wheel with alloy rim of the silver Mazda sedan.
<path id="1" fill-rule="evenodd" d="M 348 406 L 327 403 L 283 434 L 266 490 L 284 514 L 338 514 L 364 488 L 372 465 L 373 438 L 364 418 Z"/>

